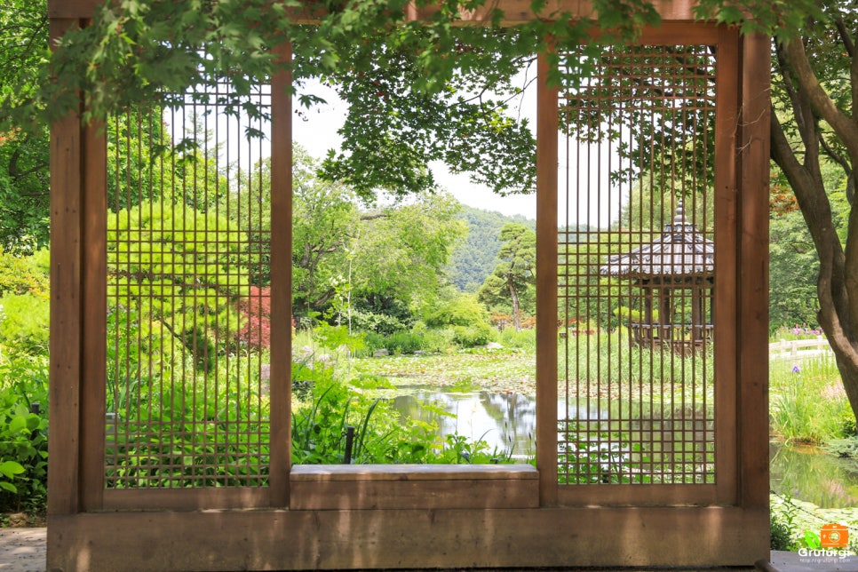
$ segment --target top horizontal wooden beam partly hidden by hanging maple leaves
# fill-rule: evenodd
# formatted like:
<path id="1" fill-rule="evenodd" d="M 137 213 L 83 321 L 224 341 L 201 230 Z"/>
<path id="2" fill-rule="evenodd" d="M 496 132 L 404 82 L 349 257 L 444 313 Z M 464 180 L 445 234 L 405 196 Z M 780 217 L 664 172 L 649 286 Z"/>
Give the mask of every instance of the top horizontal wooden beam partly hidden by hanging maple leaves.
<path id="1" fill-rule="evenodd" d="M 102 0 L 48 0 L 48 16 L 51 18 L 89 19 Z M 309 4 L 309 3 L 308 3 Z M 655 10 L 665 21 L 695 20 L 691 0 L 653 0 Z M 549 0 L 540 12 L 533 12 L 531 0 L 488 0 L 481 8 L 461 12 L 462 23 L 481 24 L 491 19 L 496 10 L 504 12 L 504 24 L 516 24 L 535 19 L 552 19 L 561 14 L 569 18 L 584 18 L 594 15 L 592 2 L 589 0 Z M 313 17 L 308 8 L 297 13 L 297 20 L 312 22 Z M 410 4 L 406 11 L 408 20 L 425 20 L 437 12 L 437 8 L 423 7 L 417 9 Z"/>

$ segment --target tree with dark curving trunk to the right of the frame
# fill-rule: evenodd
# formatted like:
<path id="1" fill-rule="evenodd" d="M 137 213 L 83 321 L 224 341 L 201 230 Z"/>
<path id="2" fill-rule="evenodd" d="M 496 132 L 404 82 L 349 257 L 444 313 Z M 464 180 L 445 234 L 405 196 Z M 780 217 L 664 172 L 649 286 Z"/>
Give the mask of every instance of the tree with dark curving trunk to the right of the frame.
<path id="1" fill-rule="evenodd" d="M 817 319 L 858 412 L 858 12 L 829 0 L 819 6 L 798 33 L 775 35 L 771 149 L 813 240 Z M 830 169 L 838 175 L 827 176 Z"/>

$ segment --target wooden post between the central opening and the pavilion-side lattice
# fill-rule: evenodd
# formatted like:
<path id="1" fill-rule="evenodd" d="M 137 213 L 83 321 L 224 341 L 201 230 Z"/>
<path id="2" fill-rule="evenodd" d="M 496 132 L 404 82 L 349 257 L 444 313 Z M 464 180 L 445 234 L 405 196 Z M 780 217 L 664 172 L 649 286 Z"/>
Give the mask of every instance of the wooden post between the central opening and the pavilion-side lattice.
<path id="1" fill-rule="evenodd" d="M 540 504 L 557 503 L 558 90 L 539 54 L 536 94 L 536 468 Z"/>

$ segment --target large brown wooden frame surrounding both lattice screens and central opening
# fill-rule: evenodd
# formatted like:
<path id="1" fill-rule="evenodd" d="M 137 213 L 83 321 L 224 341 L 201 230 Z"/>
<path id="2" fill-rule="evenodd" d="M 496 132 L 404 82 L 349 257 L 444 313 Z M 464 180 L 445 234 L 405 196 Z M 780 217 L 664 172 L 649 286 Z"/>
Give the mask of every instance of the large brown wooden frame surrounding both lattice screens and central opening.
<path id="1" fill-rule="evenodd" d="M 96 0 L 50 0 L 53 38 L 86 24 Z M 511 19 L 529 3 L 499 0 Z M 556 6 L 584 11 L 585 3 Z M 48 568 L 323 569 L 695 567 L 768 556 L 767 220 L 769 42 L 694 22 L 690 3 L 658 4 L 642 42 L 717 45 L 732 62 L 717 116 L 719 222 L 715 322 L 717 484 L 557 481 L 558 93 L 539 84 L 537 118 L 537 465 L 290 467 L 290 349 L 271 366 L 272 452 L 264 488 L 103 486 L 107 151 L 99 125 L 52 126 L 51 473 Z M 583 13 L 583 12 L 582 12 Z M 419 14 L 413 14 L 419 17 Z M 479 19 L 479 14 L 472 15 Z M 288 54 L 284 54 L 288 56 Z M 541 77 L 547 62 L 541 59 Z M 285 93 L 288 75 L 274 78 Z M 290 217 L 291 109 L 272 99 L 272 209 Z M 289 339 L 290 225 L 273 229 L 272 337 Z M 280 443 L 275 447 L 274 443 Z M 252 509 L 252 510 L 251 510 Z"/>

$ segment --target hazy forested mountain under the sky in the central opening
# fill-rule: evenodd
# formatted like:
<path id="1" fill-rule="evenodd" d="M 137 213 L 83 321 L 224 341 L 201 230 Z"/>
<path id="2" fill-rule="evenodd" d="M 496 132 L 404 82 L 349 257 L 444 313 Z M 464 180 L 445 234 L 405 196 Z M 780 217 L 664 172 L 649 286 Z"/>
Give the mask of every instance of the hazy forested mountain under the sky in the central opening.
<path id="1" fill-rule="evenodd" d="M 536 220 L 521 215 L 507 216 L 497 211 L 483 211 L 462 205 L 463 218 L 468 224 L 468 237 L 450 260 L 449 281 L 459 290 L 475 292 L 497 265 L 501 242 L 498 236 L 508 222 L 516 222 L 536 230 Z"/>

